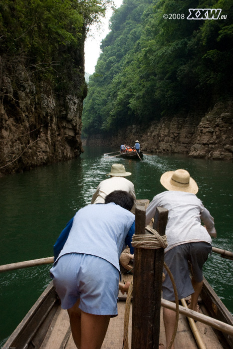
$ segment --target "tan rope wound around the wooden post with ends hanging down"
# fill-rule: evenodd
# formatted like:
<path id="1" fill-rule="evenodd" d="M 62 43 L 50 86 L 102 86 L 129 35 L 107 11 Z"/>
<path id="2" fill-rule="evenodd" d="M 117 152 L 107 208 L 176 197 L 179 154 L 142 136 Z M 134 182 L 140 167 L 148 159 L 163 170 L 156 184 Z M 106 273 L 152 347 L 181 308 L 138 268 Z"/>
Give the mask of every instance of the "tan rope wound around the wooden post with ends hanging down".
<path id="1" fill-rule="evenodd" d="M 146 226 L 146 230 L 150 231 L 151 234 L 143 234 L 143 235 L 133 235 L 132 237 L 132 246 L 137 248 L 144 248 L 144 249 L 158 249 L 158 248 L 166 248 L 167 247 L 167 236 L 163 235 L 161 236 L 155 229 L 152 229 L 149 225 Z M 178 322 L 179 322 L 179 299 L 178 299 L 178 293 L 176 284 L 174 281 L 174 278 L 172 276 L 172 273 L 170 269 L 168 268 L 167 264 L 164 262 L 164 267 L 171 279 L 174 293 L 175 293 L 175 302 L 176 302 L 176 323 L 174 332 L 172 335 L 171 342 L 167 349 L 170 349 L 173 345 L 173 342 L 176 337 L 177 328 L 178 328 Z M 124 314 L 124 339 L 123 339 L 123 347 L 124 349 L 129 349 L 129 314 L 130 314 L 130 303 L 131 303 L 131 297 L 133 292 L 133 280 L 131 281 L 131 284 L 129 286 L 128 295 L 125 303 L 125 314 Z"/>

